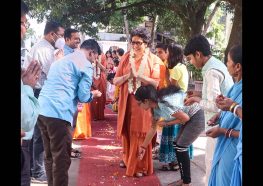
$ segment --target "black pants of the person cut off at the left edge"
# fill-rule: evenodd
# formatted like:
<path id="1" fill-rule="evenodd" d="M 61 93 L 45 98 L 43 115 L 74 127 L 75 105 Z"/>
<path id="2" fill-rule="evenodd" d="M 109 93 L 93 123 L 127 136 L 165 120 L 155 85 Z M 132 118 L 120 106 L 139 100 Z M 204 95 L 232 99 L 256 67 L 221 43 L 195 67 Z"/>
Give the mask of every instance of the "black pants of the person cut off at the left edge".
<path id="1" fill-rule="evenodd" d="M 30 141 L 23 140 L 21 146 L 21 186 L 30 186 Z"/>

